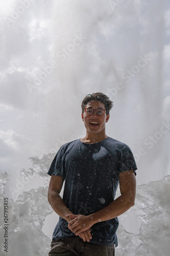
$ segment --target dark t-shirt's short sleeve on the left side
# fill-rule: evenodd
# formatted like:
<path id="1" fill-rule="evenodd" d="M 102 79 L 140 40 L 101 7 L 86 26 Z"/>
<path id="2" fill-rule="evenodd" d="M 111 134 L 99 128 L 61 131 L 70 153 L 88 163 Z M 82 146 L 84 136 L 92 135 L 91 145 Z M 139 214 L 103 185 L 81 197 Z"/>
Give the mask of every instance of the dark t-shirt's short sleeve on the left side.
<path id="1" fill-rule="evenodd" d="M 57 152 L 50 169 L 47 172 L 48 175 L 57 175 L 65 178 L 65 164 L 64 164 L 64 148 L 60 147 Z"/>

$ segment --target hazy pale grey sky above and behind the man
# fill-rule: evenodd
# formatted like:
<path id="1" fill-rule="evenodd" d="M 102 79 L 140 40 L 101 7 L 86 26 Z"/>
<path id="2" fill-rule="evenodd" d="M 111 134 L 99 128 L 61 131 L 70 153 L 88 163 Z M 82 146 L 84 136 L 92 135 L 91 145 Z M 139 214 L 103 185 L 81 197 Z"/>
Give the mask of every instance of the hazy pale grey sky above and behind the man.
<path id="1" fill-rule="evenodd" d="M 131 147 L 138 184 L 170 174 L 166 1 L 0 5 L 0 160 L 8 186 L 16 186 L 30 157 L 85 135 L 81 101 L 92 92 L 113 100 L 106 132 Z"/>

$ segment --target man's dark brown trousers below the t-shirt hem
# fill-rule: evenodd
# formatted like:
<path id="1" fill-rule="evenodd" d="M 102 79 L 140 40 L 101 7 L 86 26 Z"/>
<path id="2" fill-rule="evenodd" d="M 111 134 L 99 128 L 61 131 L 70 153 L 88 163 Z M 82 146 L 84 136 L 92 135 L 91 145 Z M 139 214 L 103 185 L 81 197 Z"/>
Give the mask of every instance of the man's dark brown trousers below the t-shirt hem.
<path id="1" fill-rule="evenodd" d="M 52 241 L 48 256 L 114 256 L 114 244 L 99 245 L 83 242 L 80 237 Z"/>

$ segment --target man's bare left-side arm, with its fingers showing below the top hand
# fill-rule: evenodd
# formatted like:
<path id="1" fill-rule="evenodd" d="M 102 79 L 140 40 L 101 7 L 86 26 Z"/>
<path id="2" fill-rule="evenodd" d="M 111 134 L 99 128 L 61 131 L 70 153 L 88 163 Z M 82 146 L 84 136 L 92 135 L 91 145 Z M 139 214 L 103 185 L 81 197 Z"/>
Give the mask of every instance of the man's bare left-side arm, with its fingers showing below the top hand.
<path id="1" fill-rule="evenodd" d="M 72 212 L 66 207 L 63 199 L 60 196 L 60 192 L 63 186 L 64 178 L 61 176 L 52 175 L 48 187 L 48 202 L 52 206 L 53 210 L 64 220 L 67 222 L 71 221 L 72 218 L 69 214 Z M 83 232 L 79 233 L 79 237 L 83 239 L 83 241 L 89 242 L 91 237 L 90 230 L 87 229 Z"/>

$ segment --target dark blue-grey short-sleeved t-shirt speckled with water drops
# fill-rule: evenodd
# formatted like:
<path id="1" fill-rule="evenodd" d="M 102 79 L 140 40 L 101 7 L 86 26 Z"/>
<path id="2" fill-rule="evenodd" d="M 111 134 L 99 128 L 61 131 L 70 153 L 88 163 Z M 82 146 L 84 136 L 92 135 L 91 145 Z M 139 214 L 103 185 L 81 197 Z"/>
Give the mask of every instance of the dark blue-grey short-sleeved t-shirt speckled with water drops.
<path id="1" fill-rule="evenodd" d="M 114 200 L 119 173 L 131 169 L 137 167 L 129 146 L 108 137 L 93 144 L 78 139 L 62 145 L 48 174 L 64 177 L 63 200 L 73 214 L 90 215 Z M 75 236 L 67 225 L 60 217 L 53 240 Z M 117 218 L 94 224 L 90 243 L 117 246 L 117 227 Z"/>

